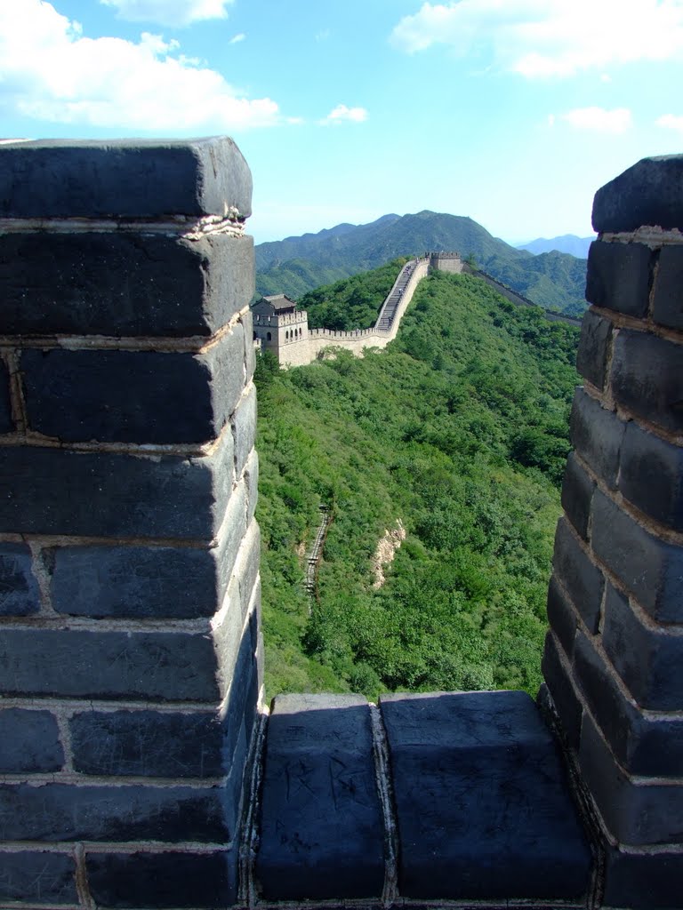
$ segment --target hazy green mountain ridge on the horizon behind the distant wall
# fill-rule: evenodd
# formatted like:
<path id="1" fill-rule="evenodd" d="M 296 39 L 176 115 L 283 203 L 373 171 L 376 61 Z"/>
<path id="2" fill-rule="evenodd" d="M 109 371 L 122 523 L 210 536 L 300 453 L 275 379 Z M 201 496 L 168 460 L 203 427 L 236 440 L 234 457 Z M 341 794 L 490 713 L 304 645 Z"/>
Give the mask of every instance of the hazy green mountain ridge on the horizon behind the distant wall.
<path id="1" fill-rule="evenodd" d="M 472 218 L 423 211 L 342 224 L 256 247 L 259 294 L 303 294 L 340 278 L 425 251 L 474 256 L 479 268 L 541 307 L 580 315 L 586 309 L 586 261 L 561 252 L 534 256 L 494 238 Z"/>

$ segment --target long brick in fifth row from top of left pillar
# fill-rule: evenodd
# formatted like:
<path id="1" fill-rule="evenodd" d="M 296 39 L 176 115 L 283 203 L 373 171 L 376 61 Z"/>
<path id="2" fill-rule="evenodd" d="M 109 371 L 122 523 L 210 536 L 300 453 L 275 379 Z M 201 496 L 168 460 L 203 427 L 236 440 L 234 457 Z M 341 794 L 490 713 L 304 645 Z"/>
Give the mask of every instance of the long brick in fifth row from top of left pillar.
<path id="1" fill-rule="evenodd" d="M 49 559 L 52 605 L 72 616 L 192 619 L 222 599 L 216 549 L 57 547 Z"/>

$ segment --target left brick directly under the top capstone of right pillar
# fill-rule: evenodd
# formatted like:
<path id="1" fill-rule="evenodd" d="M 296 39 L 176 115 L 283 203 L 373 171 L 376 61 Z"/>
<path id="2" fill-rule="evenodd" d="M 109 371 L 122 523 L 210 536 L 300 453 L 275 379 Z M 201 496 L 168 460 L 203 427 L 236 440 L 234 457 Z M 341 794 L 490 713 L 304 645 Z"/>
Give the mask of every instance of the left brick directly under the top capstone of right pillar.
<path id="1" fill-rule="evenodd" d="M 652 252 L 644 244 L 594 240 L 588 250 L 586 300 L 627 316 L 645 316 L 651 262 Z"/>

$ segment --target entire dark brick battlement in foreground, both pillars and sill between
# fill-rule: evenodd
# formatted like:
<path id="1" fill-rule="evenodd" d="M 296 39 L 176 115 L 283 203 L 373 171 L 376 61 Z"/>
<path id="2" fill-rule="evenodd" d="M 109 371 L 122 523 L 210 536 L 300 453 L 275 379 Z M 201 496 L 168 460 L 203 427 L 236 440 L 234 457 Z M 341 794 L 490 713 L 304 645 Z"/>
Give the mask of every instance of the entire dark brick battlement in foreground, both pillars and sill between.
<path id="1" fill-rule="evenodd" d="M 538 705 L 267 712 L 250 196 L 0 147 L 0 905 L 682 907 L 683 156 L 596 194 Z"/>

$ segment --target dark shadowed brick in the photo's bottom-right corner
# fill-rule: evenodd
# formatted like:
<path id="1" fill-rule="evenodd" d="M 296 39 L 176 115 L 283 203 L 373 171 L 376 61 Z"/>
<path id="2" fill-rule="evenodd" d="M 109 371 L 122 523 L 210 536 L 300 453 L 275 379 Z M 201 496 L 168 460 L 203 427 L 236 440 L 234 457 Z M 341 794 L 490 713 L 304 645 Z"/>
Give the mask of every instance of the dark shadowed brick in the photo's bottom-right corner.
<path id="1" fill-rule="evenodd" d="M 607 849 L 603 905 L 652 910 L 681 906 L 683 851 L 627 853 Z"/>

